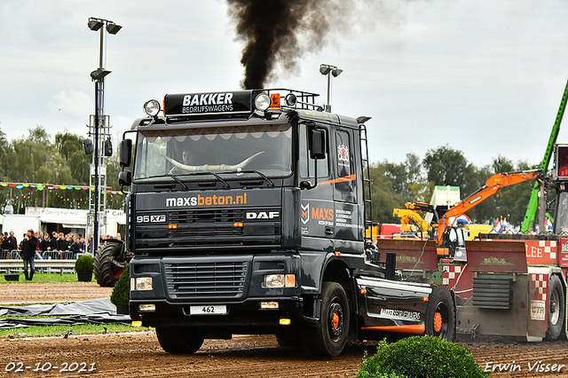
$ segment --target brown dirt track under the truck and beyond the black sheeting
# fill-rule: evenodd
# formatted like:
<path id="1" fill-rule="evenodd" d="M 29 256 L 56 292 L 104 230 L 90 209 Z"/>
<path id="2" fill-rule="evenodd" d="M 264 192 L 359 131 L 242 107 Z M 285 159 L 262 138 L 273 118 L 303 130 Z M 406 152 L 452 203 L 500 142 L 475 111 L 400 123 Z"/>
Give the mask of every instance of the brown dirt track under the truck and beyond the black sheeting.
<path id="1" fill-rule="evenodd" d="M 18 285 L 18 284 L 6 284 Z M 20 298 L 26 297 L 28 303 L 37 295 L 38 302 L 46 302 L 46 298 L 59 298 L 64 285 L 66 293 L 75 291 L 108 295 L 107 288 L 99 288 L 92 284 L 20 284 L 21 287 L 0 285 L 3 293 L 10 289 L 19 292 Z M 40 285 L 43 288 L 36 286 Z M 83 286 L 84 285 L 84 286 Z M 80 288 L 75 288 L 80 287 Z M 85 288 L 88 287 L 88 288 Z M 26 291 L 30 293 L 23 293 Z M 23 291 L 23 292 L 22 292 Z M 23 296 L 22 296 L 23 295 Z M 59 295 L 59 296 L 58 296 Z M 82 299 L 91 299 L 85 297 Z M 65 300 L 65 299 L 64 299 Z M 8 301 L 5 301 L 8 302 Z M 556 343 L 468 343 L 480 366 L 488 362 L 496 364 L 514 364 L 521 372 L 493 374 L 507 377 L 568 377 L 568 367 L 562 374 L 535 373 L 529 371 L 538 361 L 544 364 L 564 364 L 568 366 L 568 342 Z M 68 338 L 15 338 L 0 341 L 0 376 L 60 376 L 89 374 L 89 376 L 140 376 L 169 377 L 353 377 L 357 374 L 364 351 L 369 354 L 375 351 L 373 343 L 351 344 L 343 354 L 336 358 L 307 358 L 295 350 L 278 347 L 273 336 L 235 336 L 231 341 L 206 340 L 201 350 L 190 356 L 177 356 L 165 353 L 160 348 L 154 333 L 127 335 L 71 335 Z M 15 370 L 22 363 L 24 372 L 7 373 Z M 84 363 L 86 370 L 95 367 L 92 372 L 78 373 L 74 362 Z M 13 363 L 13 364 L 12 364 Z M 61 372 L 67 367 L 75 372 Z M 94 365 L 91 365 L 94 364 Z M 27 366 L 30 366 L 27 368 Z M 34 369 L 58 366 L 44 372 Z"/>

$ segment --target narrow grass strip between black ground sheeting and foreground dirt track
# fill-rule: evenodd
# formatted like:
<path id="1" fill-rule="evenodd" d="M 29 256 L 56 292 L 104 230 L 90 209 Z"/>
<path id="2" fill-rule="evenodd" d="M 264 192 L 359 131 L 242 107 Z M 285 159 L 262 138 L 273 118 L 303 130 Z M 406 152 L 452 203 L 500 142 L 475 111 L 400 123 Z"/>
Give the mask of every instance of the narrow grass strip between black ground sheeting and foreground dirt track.
<path id="1" fill-rule="evenodd" d="M 23 328 L 0 329 L 0 338 L 12 337 L 45 337 L 56 335 L 92 335 L 120 332 L 142 332 L 152 330 L 149 327 L 131 327 L 123 324 L 81 324 L 78 326 L 32 326 Z"/>

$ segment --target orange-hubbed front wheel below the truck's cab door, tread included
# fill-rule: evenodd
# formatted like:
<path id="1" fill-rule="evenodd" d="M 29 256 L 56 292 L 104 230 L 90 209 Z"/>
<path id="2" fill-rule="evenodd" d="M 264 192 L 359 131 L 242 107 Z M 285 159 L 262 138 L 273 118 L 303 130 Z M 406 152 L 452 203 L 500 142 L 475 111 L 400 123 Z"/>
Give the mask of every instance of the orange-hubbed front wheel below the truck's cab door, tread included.
<path id="1" fill-rule="evenodd" d="M 347 342 L 349 324 L 349 303 L 345 290 L 336 282 L 323 282 L 319 327 L 308 327 L 302 332 L 304 350 L 319 356 L 339 355 Z"/>

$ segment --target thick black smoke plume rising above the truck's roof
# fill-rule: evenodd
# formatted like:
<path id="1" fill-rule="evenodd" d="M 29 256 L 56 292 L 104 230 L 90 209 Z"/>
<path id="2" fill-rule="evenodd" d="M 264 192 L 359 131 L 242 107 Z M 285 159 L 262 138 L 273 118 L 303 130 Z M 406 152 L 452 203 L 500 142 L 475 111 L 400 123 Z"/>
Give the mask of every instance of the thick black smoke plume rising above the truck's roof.
<path id="1" fill-rule="evenodd" d="M 336 4 L 329 0 L 227 0 L 227 3 L 236 23 L 237 38 L 246 43 L 241 58 L 245 89 L 264 88 L 265 82 L 275 78 L 277 63 L 291 70 L 306 49 L 320 50 L 329 28 L 328 15 L 334 8 L 330 4 Z"/>

